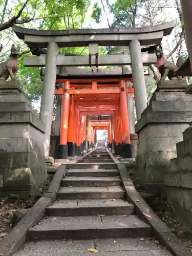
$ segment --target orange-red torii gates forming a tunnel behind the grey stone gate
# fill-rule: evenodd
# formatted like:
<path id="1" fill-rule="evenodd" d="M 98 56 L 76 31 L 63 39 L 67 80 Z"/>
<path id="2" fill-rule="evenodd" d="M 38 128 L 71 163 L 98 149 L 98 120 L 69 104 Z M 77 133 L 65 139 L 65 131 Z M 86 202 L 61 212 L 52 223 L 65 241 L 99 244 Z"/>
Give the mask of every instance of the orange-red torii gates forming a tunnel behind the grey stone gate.
<path id="1" fill-rule="evenodd" d="M 63 88 L 55 90 L 55 95 L 63 95 L 59 158 L 73 155 L 74 145 L 81 147 L 86 140 L 87 115 L 112 115 L 116 145 L 130 144 L 126 93 L 134 94 L 134 89 L 133 84 L 125 88 L 125 80 L 132 79 L 56 79 L 56 83 L 64 83 Z M 111 122 L 109 126 L 112 143 Z M 93 142 L 90 133 L 89 122 L 88 138 Z"/>

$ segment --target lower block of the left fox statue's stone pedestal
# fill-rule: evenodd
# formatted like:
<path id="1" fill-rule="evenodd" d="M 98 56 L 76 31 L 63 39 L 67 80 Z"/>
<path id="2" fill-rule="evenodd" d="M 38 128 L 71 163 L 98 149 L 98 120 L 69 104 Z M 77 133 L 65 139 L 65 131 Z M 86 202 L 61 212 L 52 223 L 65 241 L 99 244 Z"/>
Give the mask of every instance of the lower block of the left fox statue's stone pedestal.
<path id="1" fill-rule="evenodd" d="M 37 187 L 47 178 L 44 148 L 29 138 L 17 138 L 17 142 L 13 138 L 13 141 L 11 147 L 10 139 L 7 139 L 8 150 L 0 146 L 0 175 L 3 177 L 1 196 L 28 198 L 36 195 Z M 15 152 L 11 151 L 13 147 Z"/>

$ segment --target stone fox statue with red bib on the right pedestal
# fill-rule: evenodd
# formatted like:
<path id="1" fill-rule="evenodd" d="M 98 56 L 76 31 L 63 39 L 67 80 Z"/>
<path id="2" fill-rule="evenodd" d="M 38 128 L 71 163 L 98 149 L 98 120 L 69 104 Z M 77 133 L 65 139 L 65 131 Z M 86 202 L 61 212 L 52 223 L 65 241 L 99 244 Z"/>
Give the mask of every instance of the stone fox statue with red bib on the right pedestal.
<path id="1" fill-rule="evenodd" d="M 182 77 L 175 76 L 175 72 L 181 67 L 184 59 L 179 56 L 177 65 L 167 61 L 163 56 L 163 48 L 161 45 L 155 45 L 147 48 L 143 48 L 142 52 L 155 53 L 157 57 L 157 68 L 161 74 L 161 80 L 165 80 L 168 76 L 169 80 L 182 80 Z"/>

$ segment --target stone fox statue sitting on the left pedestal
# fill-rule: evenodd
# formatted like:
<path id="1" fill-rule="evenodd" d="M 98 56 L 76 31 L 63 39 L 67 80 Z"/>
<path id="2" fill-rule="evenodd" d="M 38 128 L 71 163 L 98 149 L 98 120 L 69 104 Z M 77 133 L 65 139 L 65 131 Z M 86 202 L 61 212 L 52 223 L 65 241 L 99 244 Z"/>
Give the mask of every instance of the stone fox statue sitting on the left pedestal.
<path id="1" fill-rule="evenodd" d="M 14 44 L 11 46 L 9 58 L 5 62 L 0 63 L 0 78 L 7 80 L 10 76 L 12 80 L 16 80 L 15 75 L 18 71 L 19 50 L 19 46 L 16 47 Z"/>

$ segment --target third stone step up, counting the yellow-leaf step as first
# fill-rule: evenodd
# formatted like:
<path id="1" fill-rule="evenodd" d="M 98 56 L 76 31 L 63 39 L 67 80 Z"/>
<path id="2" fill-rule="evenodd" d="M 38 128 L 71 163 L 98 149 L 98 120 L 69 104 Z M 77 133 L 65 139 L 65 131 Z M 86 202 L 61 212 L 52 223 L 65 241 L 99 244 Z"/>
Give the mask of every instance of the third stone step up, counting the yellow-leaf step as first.
<path id="1" fill-rule="evenodd" d="M 113 199 L 114 200 L 114 199 Z M 122 199 L 56 200 L 46 209 L 48 216 L 93 216 L 134 214 L 134 206 Z"/>

